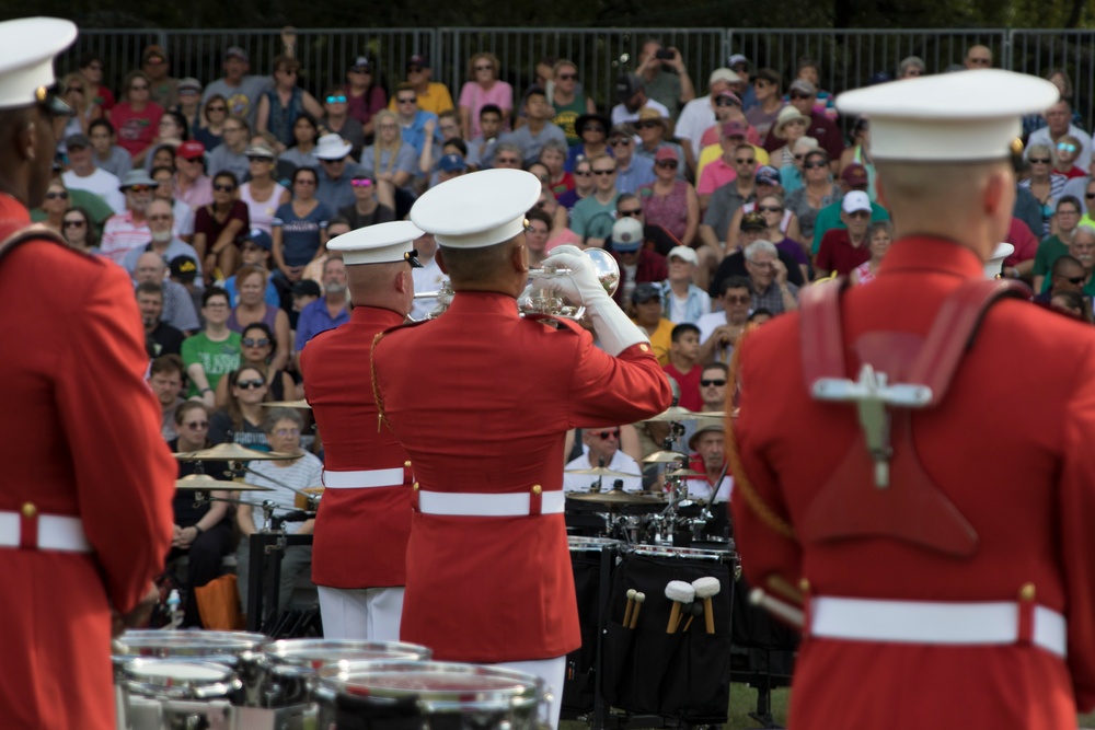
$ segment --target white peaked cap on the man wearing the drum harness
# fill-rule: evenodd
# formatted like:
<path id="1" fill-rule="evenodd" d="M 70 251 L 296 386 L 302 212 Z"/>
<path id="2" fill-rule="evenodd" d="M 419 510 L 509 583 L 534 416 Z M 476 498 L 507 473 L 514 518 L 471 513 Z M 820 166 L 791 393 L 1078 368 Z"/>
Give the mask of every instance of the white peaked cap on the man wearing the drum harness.
<path id="1" fill-rule="evenodd" d="M 1060 96 L 1044 79 L 986 69 L 856 89 L 837 99 L 837 109 L 871 119 L 876 160 L 976 162 L 1006 159 L 1022 117 Z"/>

